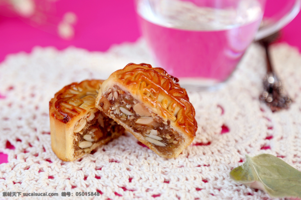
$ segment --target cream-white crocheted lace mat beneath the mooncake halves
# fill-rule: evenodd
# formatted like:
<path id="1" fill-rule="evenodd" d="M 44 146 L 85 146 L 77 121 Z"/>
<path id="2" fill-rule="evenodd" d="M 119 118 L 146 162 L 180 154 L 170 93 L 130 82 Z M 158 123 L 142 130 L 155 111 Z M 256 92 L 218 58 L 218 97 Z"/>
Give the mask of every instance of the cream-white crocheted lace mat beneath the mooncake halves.
<path id="1" fill-rule="evenodd" d="M 198 130 L 178 158 L 159 157 L 126 134 L 74 162 L 61 161 L 51 150 L 49 100 L 71 82 L 106 79 L 130 62 L 153 64 L 145 42 L 107 52 L 35 47 L 8 56 L 0 65 L 0 152 L 8 154 L 8 163 L 0 165 L 0 196 L 47 192 L 61 199 L 65 191 L 73 197 L 62 199 L 74 199 L 83 191 L 99 192 L 97 199 L 273 199 L 229 178 L 245 154 L 273 154 L 301 171 L 301 56 L 287 44 L 272 47 L 293 99 L 290 109 L 272 113 L 258 100 L 263 53 L 252 44 L 221 90 L 189 92 Z"/>

